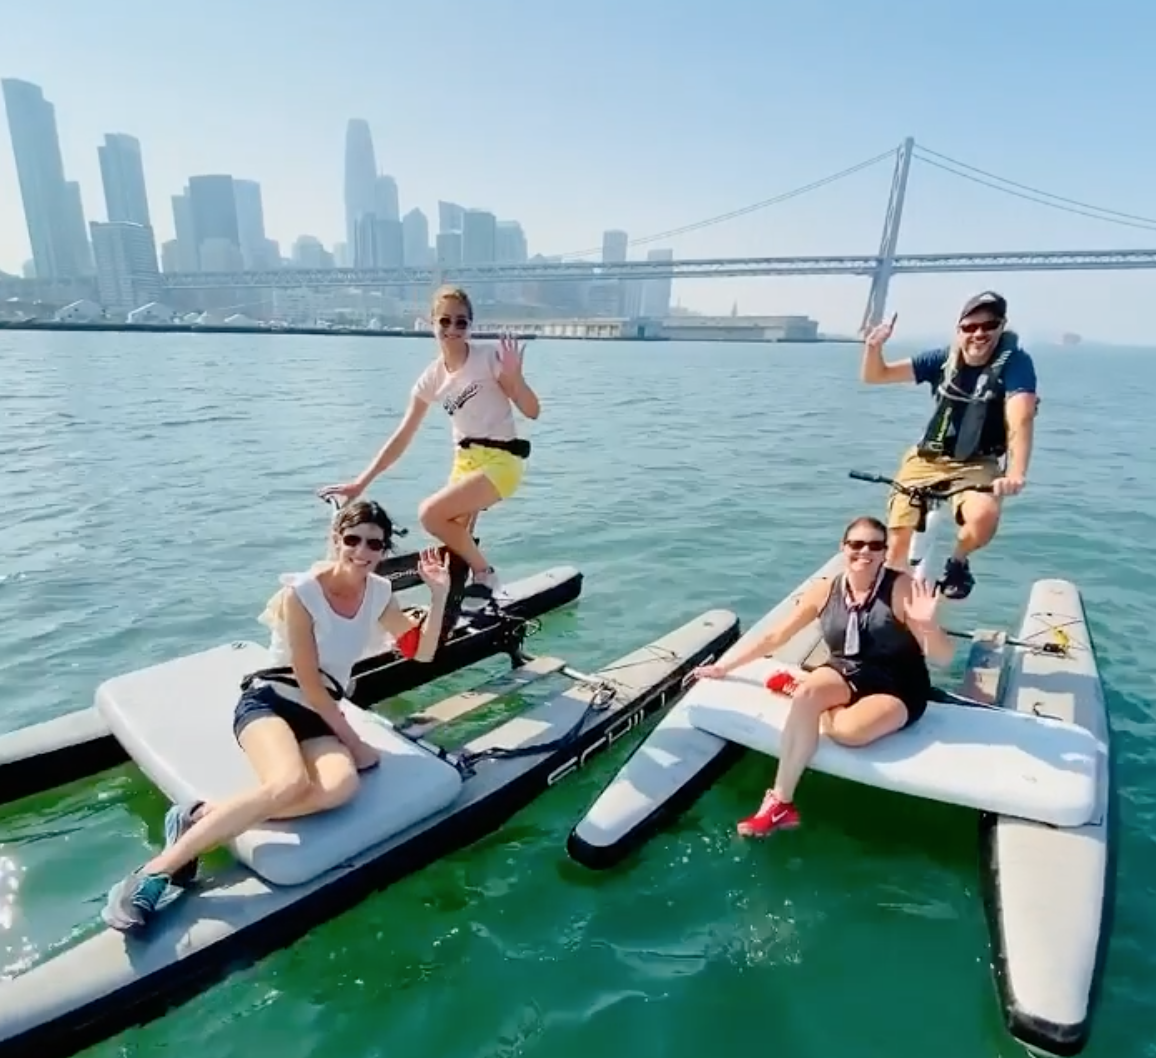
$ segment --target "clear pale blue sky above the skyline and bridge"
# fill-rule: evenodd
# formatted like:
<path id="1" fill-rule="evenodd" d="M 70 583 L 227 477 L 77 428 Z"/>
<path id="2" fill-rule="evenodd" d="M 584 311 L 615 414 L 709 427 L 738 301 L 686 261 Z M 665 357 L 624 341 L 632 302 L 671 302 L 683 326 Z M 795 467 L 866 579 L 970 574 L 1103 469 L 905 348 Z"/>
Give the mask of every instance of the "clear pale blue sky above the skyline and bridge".
<path id="1" fill-rule="evenodd" d="M 57 106 L 65 165 L 104 219 L 96 147 L 140 138 L 154 223 L 198 172 L 260 180 L 269 235 L 342 232 L 346 121 L 369 120 L 402 209 L 450 199 L 520 220 L 532 252 L 645 236 L 896 146 L 1156 216 L 1150 0 L 8 0 L 0 76 Z M 325 10 L 327 8 L 327 10 Z M 2 109 L 0 109 L 2 113 Z M 0 123 L 2 123 L 0 117 Z M 672 241 L 679 257 L 870 252 L 887 163 Z M 912 171 L 901 250 L 1156 246 L 1138 230 Z M 7 131 L 0 268 L 29 256 Z M 1156 272 L 901 278 L 901 333 L 994 284 L 1027 333 L 1156 341 Z M 866 280 L 676 283 L 705 311 L 853 328 Z"/>

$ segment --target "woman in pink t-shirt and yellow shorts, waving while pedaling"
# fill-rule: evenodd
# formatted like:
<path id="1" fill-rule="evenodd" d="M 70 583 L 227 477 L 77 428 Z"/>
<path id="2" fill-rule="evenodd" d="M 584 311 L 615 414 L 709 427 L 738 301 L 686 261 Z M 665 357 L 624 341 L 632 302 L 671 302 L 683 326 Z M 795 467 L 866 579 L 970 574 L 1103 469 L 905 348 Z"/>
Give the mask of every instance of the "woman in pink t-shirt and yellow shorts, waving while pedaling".
<path id="1" fill-rule="evenodd" d="M 442 287 L 433 295 L 438 356 L 421 373 L 398 428 L 373 461 L 351 482 L 328 486 L 323 496 L 356 500 L 370 482 L 409 447 L 429 406 L 437 401 L 450 416 L 454 458 L 446 484 L 418 509 L 422 527 L 469 565 L 472 595 L 499 600 L 501 580 L 474 542 L 477 515 L 509 500 L 521 483 L 529 442 L 518 437 L 513 408 L 538 419 L 538 395 L 523 375 L 523 346 L 470 343 L 474 306 L 465 290 Z"/>

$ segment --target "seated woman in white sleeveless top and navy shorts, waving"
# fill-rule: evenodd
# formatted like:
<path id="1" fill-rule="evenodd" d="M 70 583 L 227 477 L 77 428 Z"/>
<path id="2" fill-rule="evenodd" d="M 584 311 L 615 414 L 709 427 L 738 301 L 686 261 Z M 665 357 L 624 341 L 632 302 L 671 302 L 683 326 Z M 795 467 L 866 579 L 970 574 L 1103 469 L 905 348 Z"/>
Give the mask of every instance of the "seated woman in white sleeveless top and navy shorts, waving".
<path id="1" fill-rule="evenodd" d="M 450 575 L 445 560 L 422 555 L 418 572 L 430 608 L 414 621 L 390 582 L 373 572 L 393 524 L 376 503 L 343 506 L 333 521 L 331 557 L 282 578 L 261 620 L 272 629 L 271 666 L 242 681 L 232 730 L 257 784 L 220 804 L 175 805 L 164 817 L 164 850 L 112 887 L 102 912 L 117 930 L 143 926 L 170 886 L 197 875 L 198 857 L 266 820 L 312 815 L 357 792 L 358 771 L 378 762 L 341 711 L 353 668 L 381 630 L 398 650 L 430 661 L 437 650 Z"/>

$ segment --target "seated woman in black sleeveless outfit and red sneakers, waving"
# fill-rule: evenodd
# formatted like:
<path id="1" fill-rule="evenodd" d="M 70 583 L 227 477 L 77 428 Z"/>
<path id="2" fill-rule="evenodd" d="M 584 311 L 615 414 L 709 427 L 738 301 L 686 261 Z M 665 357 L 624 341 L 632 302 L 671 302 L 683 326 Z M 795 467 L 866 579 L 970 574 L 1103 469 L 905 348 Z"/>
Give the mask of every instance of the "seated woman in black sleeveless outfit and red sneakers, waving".
<path id="1" fill-rule="evenodd" d="M 821 728 L 844 746 L 866 746 L 911 726 L 927 709 L 926 657 L 946 665 L 954 649 L 935 620 L 934 587 L 887 568 L 885 552 L 883 523 L 855 518 L 843 533 L 842 574 L 809 585 L 791 616 L 749 646 L 695 669 L 694 675 L 721 679 L 778 650 L 816 620 L 831 656 L 792 693 L 775 785 L 758 811 L 739 823 L 741 835 L 762 837 L 799 826 L 794 792 L 818 748 Z"/>

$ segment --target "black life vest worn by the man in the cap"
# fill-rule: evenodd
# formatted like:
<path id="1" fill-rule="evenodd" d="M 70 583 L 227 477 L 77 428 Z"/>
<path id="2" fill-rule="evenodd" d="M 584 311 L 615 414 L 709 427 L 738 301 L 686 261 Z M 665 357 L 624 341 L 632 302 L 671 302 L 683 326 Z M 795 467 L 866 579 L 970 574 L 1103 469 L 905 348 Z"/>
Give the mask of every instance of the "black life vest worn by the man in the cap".
<path id="1" fill-rule="evenodd" d="M 1018 349 L 1018 335 L 1006 331 L 992 358 L 979 369 L 976 385 L 970 392 L 956 384 L 968 364 L 959 353 L 951 352 L 934 391 L 935 412 L 919 442 L 920 456 L 966 461 L 976 458 L 998 459 L 1006 454 L 1003 400 L 1007 391 L 1003 386 L 1003 369 Z"/>

